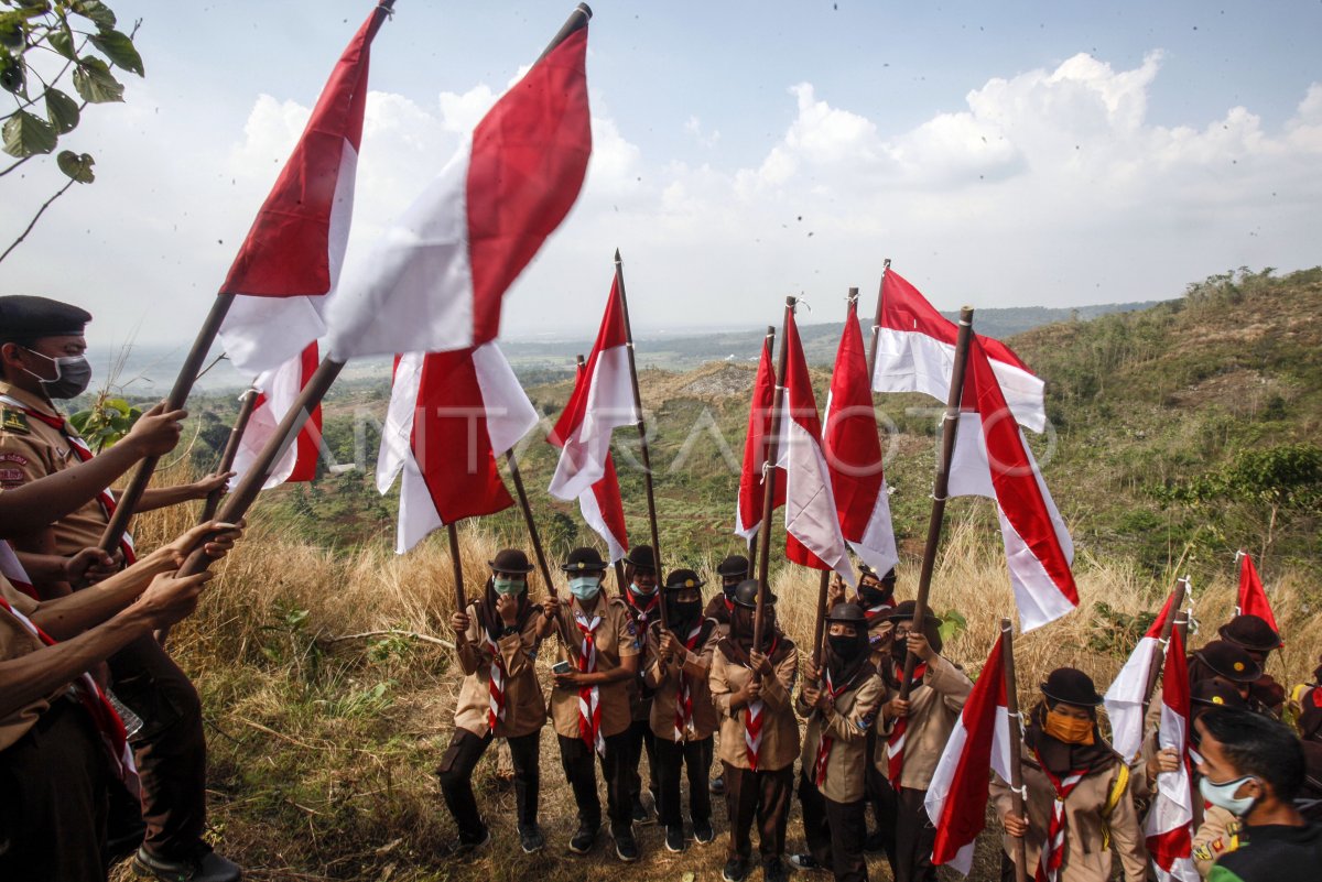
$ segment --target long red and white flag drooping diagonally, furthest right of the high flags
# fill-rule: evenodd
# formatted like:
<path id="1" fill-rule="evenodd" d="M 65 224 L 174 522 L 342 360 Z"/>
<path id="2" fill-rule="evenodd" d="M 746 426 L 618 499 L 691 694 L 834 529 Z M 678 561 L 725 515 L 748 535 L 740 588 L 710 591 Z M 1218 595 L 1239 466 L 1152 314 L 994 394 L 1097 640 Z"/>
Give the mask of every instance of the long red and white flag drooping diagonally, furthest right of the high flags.
<path id="1" fill-rule="evenodd" d="M 995 499 L 1019 627 L 1031 631 L 1079 606 L 1073 541 L 976 338 L 961 404 L 949 495 Z"/>

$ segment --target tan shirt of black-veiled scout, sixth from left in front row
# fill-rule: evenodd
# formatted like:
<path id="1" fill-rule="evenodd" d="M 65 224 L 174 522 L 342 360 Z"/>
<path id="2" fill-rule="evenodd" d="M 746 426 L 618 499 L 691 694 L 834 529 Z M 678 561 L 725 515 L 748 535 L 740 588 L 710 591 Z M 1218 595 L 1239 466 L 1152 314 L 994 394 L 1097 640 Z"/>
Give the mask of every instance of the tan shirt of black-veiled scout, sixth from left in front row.
<path id="1" fill-rule="evenodd" d="M 884 695 L 886 684 L 874 669 L 857 677 L 825 712 L 809 709 L 802 701 L 802 693 L 795 701 L 798 714 L 808 718 L 800 763 L 809 779 L 817 770 L 817 749 L 822 734 L 834 738 L 826 758 L 826 780 L 821 784 L 822 796 L 833 803 L 857 803 L 863 799 L 867 730 L 876 720 Z"/>

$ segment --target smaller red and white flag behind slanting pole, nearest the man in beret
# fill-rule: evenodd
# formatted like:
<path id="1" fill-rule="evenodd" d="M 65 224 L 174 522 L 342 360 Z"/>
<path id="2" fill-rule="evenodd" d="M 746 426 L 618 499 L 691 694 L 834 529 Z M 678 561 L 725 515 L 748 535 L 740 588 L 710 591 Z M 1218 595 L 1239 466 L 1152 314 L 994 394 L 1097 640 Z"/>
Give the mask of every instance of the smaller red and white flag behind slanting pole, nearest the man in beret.
<path id="1" fill-rule="evenodd" d="M 317 342 L 312 341 L 307 347 L 291 358 L 288 362 L 272 371 L 263 371 L 253 382 L 256 403 L 253 405 L 253 415 L 249 417 L 247 428 L 239 437 L 239 448 L 234 453 L 234 477 L 230 478 L 230 490 L 238 486 L 243 475 L 247 474 L 253 463 L 256 462 L 266 442 L 275 434 L 280 420 L 293 407 L 299 392 L 308 384 L 312 374 L 317 370 L 320 355 Z M 297 441 L 291 444 L 280 458 L 275 461 L 270 477 L 262 485 L 262 490 L 270 490 L 282 483 L 295 483 L 299 481 L 312 481 L 317 477 L 317 454 L 321 452 L 321 404 L 312 409 L 308 421 L 299 430 Z"/>

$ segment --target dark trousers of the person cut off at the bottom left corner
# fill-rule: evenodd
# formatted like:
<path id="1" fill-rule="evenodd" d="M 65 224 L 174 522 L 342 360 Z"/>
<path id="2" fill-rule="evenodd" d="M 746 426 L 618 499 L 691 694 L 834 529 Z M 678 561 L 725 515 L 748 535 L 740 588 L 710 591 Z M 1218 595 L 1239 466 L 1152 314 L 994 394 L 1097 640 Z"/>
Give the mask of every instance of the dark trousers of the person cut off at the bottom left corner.
<path id="1" fill-rule="evenodd" d="M 0 879 L 104 882 L 112 774 L 91 718 L 67 698 L 0 751 Z"/>

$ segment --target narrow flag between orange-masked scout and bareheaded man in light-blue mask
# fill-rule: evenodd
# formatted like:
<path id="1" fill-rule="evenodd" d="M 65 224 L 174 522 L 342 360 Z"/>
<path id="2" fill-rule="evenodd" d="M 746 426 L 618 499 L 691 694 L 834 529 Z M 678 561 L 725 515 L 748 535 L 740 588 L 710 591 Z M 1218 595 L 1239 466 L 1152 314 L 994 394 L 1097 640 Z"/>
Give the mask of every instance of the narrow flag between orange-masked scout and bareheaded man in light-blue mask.
<path id="1" fill-rule="evenodd" d="M 1158 746 L 1174 747 L 1179 754 L 1179 767 L 1157 775 L 1157 795 L 1147 817 L 1144 836 L 1159 882 L 1199 882 L 1194 866 L 1194 794 L 1190 788 L 1188 726 L 1190 695 L 1188 665 L 1185 662 L 1185 643 L 1179 628 L 1170 632 L 1166 667 L 1161 681 L 1161 729 Z"/>

